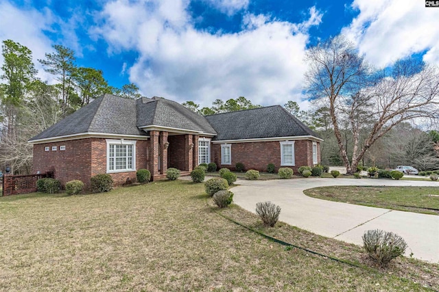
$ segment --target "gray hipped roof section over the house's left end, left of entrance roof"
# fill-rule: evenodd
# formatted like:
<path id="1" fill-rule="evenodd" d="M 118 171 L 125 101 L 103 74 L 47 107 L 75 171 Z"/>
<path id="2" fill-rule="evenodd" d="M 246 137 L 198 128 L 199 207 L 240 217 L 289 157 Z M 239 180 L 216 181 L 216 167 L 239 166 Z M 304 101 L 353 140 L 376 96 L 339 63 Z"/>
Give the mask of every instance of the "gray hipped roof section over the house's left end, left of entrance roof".
<path id="1" fill-rule="evenodd" d="M 146 135 L 136 125 L 136 101 L 105 94 L 32 137 L 29 142 L 79 133 Z"/>

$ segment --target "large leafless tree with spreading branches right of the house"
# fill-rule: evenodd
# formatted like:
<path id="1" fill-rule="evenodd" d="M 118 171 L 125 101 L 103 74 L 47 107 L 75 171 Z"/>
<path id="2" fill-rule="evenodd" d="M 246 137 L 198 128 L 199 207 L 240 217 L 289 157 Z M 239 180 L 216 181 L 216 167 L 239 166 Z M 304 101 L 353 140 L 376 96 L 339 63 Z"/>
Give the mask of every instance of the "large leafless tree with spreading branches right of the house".
<path id="1" fill-rule="evenodd" d="M 348 173 L 355 172 L 366 150 L 396 124 L 438 117 L 437 67 L 405 59 L 391 69 L 377 71 L 341 36 L 311 47 L 307 62 L 307 94 L 314 102 L 329 108 Z M 351 158 L 344 147 L 340 127 L 346 121 L 353 134 Z M 359 133 L 365 124 L 371 127 L 360 147 Z"/>

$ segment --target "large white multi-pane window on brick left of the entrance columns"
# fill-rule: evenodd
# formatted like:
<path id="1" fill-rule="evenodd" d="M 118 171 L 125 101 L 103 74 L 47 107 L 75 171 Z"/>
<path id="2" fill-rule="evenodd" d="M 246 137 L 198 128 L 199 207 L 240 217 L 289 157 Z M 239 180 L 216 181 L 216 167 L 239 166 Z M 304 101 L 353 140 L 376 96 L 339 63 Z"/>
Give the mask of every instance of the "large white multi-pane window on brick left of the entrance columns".
<path id="1" fill-rule="evenodd" d="M 136 141 L 107 139 L 107 172 L 136 170 Z"/>

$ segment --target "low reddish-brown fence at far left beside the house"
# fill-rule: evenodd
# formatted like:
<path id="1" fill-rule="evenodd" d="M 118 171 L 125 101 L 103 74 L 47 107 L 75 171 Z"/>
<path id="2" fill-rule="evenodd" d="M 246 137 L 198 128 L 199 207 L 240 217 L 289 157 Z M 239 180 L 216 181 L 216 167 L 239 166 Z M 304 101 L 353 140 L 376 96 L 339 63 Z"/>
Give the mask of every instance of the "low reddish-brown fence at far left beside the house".
<path id="1" fill-rule="evenodd" d="M 3 176 L 3 196 L 28 194 L 36 191 L 36 181 L 40 178 L 54 178 L 54 172 L 45 174 Z"/>

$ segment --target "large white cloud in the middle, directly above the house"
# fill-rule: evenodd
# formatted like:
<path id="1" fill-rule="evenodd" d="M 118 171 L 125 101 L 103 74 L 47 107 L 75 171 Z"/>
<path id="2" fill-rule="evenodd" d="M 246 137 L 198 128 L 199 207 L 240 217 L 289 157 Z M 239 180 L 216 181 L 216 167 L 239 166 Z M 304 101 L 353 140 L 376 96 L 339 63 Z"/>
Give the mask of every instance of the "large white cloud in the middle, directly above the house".
<path id="1" fill-rule="evenodd" d="M 249 14 L 239 33 L 211 34 L 194 29 L 186 2 L 172 3 L 178 13 L 158 0 L 111 2 L 91 30 L 110 50 L 139 53 L 128 72 L 143 94 L 202 106 L 238 96 L 261 105 L 300 102 L 307 29 L 321 19 L 316 10 L 299 24 Z"/>

